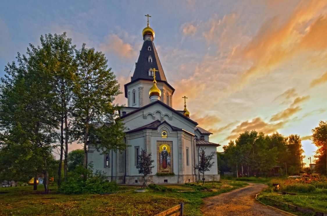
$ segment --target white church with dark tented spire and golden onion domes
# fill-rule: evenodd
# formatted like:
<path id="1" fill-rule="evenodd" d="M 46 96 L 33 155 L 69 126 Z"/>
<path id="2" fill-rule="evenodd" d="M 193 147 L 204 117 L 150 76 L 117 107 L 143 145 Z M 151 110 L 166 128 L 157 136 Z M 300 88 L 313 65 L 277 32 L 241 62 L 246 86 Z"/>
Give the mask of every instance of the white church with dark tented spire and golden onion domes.
<path id="1" fill-rule="evenodd" d="M 149 15 L 146 15 L 149 17 Z M 143 174 L 136 168 L 142 149 L 151 153 L 154 163 L 152 174 L 146 177 L 148 184 L 178 184 L 202 180 L 202 174 L 194 169 L 199 154 L 216 152 L 219 144 L 209 142 L 212 134 L 191 119 L 190 112 L 173 109 L 175 89 L 168 83 L 158 53 L 154 46 L 154 30 L 142 31 L 143 45 L 130 81 L 124 85 L 127 107 L 119 115 L 126 127 L 126 151 L 110 151 L 105 154 L 89 147 L 88 161 L 93 169 L 104 171 L 108 181 L 118 184 L 142 185 Z M 93 150 L 92 150 L 93 149 Z M 219 181 L 217 159 L 206 171 L 206 181 Z"/>

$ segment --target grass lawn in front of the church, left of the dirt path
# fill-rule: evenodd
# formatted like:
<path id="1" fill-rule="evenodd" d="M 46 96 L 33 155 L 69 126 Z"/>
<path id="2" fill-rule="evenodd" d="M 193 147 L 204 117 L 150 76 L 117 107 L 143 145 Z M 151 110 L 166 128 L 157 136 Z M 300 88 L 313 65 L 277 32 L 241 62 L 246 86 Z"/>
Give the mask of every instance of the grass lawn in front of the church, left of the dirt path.
<path id="1" fill-rule="evenodd" d="M 244 182 L 208 182 L 198 184 L 152 186 L 145 193 L 134 190 L 117 194 L 64 195 L 50 186 L 43 194 L 42 185 L 0 188 L 0 215 L 154 215 L 184 202 L 185 215 L 202 215 L 202 198 L 247 185 Z M 119 186 L 119 190 L 135 187 Z"/>

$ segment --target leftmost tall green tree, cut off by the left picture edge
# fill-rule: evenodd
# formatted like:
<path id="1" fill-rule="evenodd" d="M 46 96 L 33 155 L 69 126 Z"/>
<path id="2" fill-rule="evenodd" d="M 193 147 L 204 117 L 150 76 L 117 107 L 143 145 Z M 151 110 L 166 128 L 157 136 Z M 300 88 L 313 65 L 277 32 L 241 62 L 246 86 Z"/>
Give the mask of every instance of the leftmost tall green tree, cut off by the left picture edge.
<path id="1" fill-rule="evenodd" d="M 54 129 L 58 126 L 51 74 L 43 70 L 42 46 L 30 44 L 27 56 L 18 54 L 17 62 L 5 68 L 0 87 L 1 150 L 7 155 L 7 165 L 17 164 L 22 173 L 44 175 L 44 190 L 48 192 L 48 162 L 55 147 Z M 19 171 L 16 171 L 16 173 Z"/>

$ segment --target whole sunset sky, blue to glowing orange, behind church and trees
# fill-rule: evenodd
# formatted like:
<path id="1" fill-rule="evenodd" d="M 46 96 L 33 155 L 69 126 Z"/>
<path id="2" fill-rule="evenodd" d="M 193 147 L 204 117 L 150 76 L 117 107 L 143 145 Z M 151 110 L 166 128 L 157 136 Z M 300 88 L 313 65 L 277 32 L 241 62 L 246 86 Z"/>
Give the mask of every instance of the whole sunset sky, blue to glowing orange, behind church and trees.
<path id="1" fill-rule="evenodd" d="M 298 134 L 308 165 L 317 149 L 311 130 L 327 120 L 327 1 L 2 1 L 0 77 L 29 43 L 67 32 L 77 48 L 105 53 L 123 91 L 145 14 L 176 89 L 173 108 L 188 97 L 191 118 L 222 146 L 246 130 Z"/>

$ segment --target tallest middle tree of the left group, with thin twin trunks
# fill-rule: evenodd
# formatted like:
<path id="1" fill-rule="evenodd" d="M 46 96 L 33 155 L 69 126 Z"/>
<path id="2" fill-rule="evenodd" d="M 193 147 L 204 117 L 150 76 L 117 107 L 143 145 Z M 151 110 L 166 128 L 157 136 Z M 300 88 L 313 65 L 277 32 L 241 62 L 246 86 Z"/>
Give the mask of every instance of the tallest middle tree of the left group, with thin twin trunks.
<path id="1" fill-rule="evenodd" d="M 55 111 L 60 119 L 60 131 L 58 141 L 60 143 L 60 159 L 58 168 L 58 186 L 61 184 L 61 165 L 64 153 L 64 179 L 67 180 L 67 154 L 69 144 L 69 121 L 73 82 L 75 80 L 76 63 L 74 61 L 75 45 L 71 44 L 71 39 L 62 35 L 46 34 L 41 36 L 41 70 L 50 75 L 52 91 L 56 99 Z"/>

